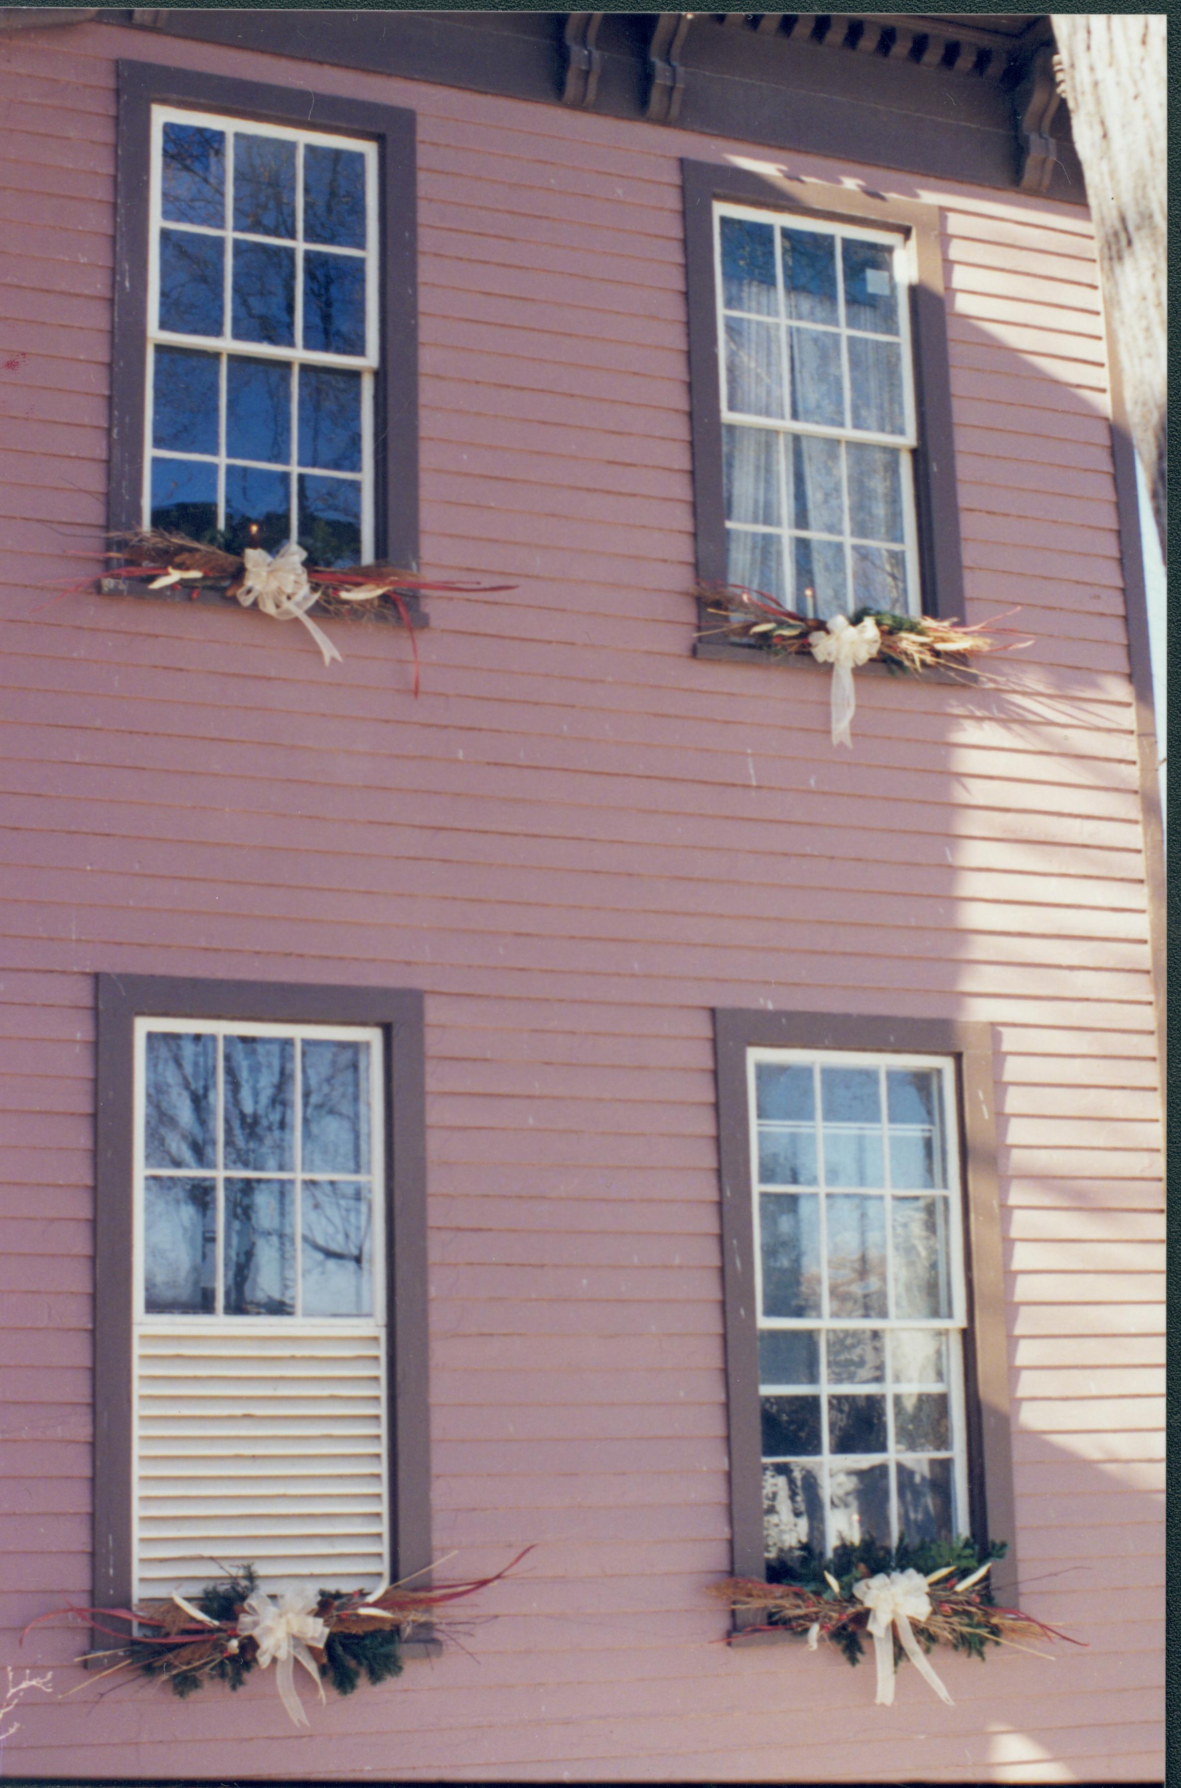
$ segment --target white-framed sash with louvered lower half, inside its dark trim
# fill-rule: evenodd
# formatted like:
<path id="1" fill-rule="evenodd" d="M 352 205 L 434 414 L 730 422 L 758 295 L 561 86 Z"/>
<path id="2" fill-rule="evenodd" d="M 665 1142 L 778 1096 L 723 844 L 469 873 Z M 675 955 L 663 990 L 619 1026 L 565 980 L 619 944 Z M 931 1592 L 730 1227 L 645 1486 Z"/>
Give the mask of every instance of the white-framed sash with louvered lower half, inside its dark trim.
<path id="1" fill-rule="evenodd" d="M 386 1336 L 377 1271 L 382 1225 L 381 1200 L 373 1196 L 379 1177 L 370 1171 L 334 1180 L 302 1173 L 309 1153 L 306 1135 L 300 1137 L 304 1148 L 297 1141 L 289 1157 L 282 1157 L 293 1162 L 291 1171 L 236 1175 L 229 1160 L 234 1116 L 230 1110 L 227 1119 L 227 1109 L 239 1089 L 225 1069 L 225 1046 L 229 1037 L 230 1050 L 241 1055 L 247 1026 L 175 1025 L 163 1030 L 157 1021 L 141 1025 L 138 1067 L 150 1085 L 138 1100 L 141 1300 L 134 1346 L 134 1593 L 193 1591 L 223 1568 L 243 1563 L 255 1564 L 264 1584 L 375 1588 L 386 1575 L 389 1525 Z M 306 1051 L 309 1042 L 339 1050 L 381 1048 L 381 1033 L 368 1032 L 327 1037 L 323 1028 L 257 1026 L 255 1032 L 264 1032 L 270 1044 L 286 1044 L 291 1060 L 300 1064 L 314 1060 Z M 154 1041 L 161 1033 L 168 1039 L 163 1044 Z M 172 1084 L 177 1060 L 164 1060 L 161 1069 L 161 1053 L 168 1057 L 168 1051 L 184 1057 L 180 1089 Z M 214 1066 L 204 1105 L 191 1096 L 191 1084 L 204 1073 L 202 1055 Z M 293 1085 L 284 1089 L 295 1110 L 302 1082 L 311 1078 L 295 1067 Z M 363 1121 L 370 1128 L 363 1160 L 372 1169 L 382 1159 L 379 1112 L 372 1110 L 379 1105 L 372 1092 L 381 1087 L 381 1062 L 373 1055 L 364 1087 Z M 172 1169 L 157 1166 L 163 1153 L 200 1155 L 207 1146 L 184 1137 L 177 1144 L 172 1134 L 161 1144 L 164 1098 L 180 1107 L 180 1128 L 195 1105 L 200 1107 L 198 1125 L 205 1123 L 205 1107 L 213 1103 L 209 1121 L 218 1130 L 216 1151 L 207 1155 L 213 1169 L 205 1171 L 204 1162 L 197 1169 L 188 1162 Z M 248 1118 L 254 1128 L 247 1151 L 257 1148 L 264 1155 L 270 1150 L 268 1160 L 279 1159 L 282 1151 L 264 1135 L 266 1101 L 255 1098 Z M 332 1118 L 339 1119 L 339 1112 L 329 1112 Z M 339 1121 L 336 1130 L 339 1144 L 345 1135 Z M 238 1146 L 241 1153 L 241 1141 Z M 270 1228 L 259 1218 L 252 1232 L 248 1218 L 268 1198 Z M 359 1212 L 366 1200 L 372 1219 L 363 1234 Z M 270 1289 L 273 1293 L 275 1284 L 281 1291 L 289 1287 L 284 1295 L 293 1309 L 241 1316 L 232 1309 L 236 1296 L 241 1302 L 241 1289 L 234 1289 L 234 1261 L 250 1250 L 254 1261 L 268 1246 L 288 1271 L 282 1278 L 277 1269 Z M 323 1262 L 327 1291 L 322 1280 L 316 1282 Z M 257 1269 L 257 1282 L 264 1277 L 266 1262 Z M 186 1300 L 191 1305 L 197 1296 L 213 1307 L 200 1314 L 150 1309 Z M 368 1302 L 373 1314 L 300 1314 L 304 1303 L 322 1309 L 325 1300 L 348 1298 Z M 270 1302 L 282 1300 L 272 1296 Z"/>

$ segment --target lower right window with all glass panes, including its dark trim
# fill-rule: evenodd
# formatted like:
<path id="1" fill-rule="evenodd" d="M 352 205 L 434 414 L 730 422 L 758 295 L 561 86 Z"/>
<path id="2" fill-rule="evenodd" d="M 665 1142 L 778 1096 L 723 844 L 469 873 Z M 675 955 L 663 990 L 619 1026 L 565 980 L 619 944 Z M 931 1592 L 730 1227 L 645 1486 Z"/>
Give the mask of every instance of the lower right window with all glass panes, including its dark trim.
<path id="1" fill-rule="evenodd" d="M 988 1026 L 720 1010 L 715 1039 L 734 1570 L 1011 1548 Z"/>

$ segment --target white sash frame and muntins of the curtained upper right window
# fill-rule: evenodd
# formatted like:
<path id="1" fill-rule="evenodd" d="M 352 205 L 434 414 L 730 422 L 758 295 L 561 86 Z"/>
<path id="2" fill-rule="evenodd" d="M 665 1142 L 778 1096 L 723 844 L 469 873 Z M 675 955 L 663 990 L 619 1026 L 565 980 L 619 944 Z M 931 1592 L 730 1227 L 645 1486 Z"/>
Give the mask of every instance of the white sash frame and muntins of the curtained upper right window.
<path id="1" fill-rule="evenodd" d="M 740 218 L 741 222 L 749 222 L 749 224 L 770 224 L 772 229 L 775 229 L 775 231 L 779 231 L 779 227 L 792 229 L 792 231 L 808 231 L 808 232 L 811 232 L 815 236 L 829 236 L 829 238 L 836 240 L 838 243 L 842 240 L 845 240 L 845 238 L 854 240 L 854 241 L 875 241 L 875 243 L 883 243 L 883 247 L 888 247 L 892 250 L 892 268 L 893 268 L 893 281 L 895 281 L 897 302 L 899 302 L 899 334 L 897 336 L 886 336 L 886 334 L 881 334 L 881 333 L 875 333 L 875 331 L 849 329 L 847 327 L 847 324 L 845 324 L 845 283 L 843 283 L 843 275 L 838 279 L 838 295 L 840 295 L 840 313 L 838 313 L 840 320 L 838 320 L 838 324 L 811 324 L 811 322 L 799 322 L 797 324 L 797 322 L 788 322 L 786 320 L 786 306 L 784 306 L 784 291 L 783 291 L 783 257 L 779 254 L 779 236 L 777 234 L 775 234 L 775 291 L 777 291 L 777 297 L 779 297 L 779 316 L 777 318 L 768 318 L 768 316 L 758 315 L 754 311 L 727 309 L 725 308 L 725 286 L 724 286 L 724 279 L 722 279 L 722 218 Z M 840 249 L 838 249 L 838 254 L 840 254 Z M 902 551 L 906 554 L 906 599 L 908 599 L 908 613 L 920 615 L 922 613 L 922 583 L 920 583 L 920 563 L 918 563 L 918 517 L 917 517 L 917 510 L 915 510 L 915 452 L 917 452 L 917 447 L 918 447 L 918 424 L 917 424 L 917 401 L 915 401 L 915 356 L 913 356 L 913 347 L 911 347 L 911 304 L 909 304 L 911 288 L 913 288 L 913 284 L 917 281 L 917 263 L 915 263 L 915 245 L 913 245 L 913 241 L 904 232 L 897 232 L 897 231 L 872 229 L 870 225 L 858 225 L 858 224 L 838 224 L 838 222 L 833 222 L 833 220 L 817 220 L 817 218 L 809 218 L 809 216 L 804 216 L 804 215 L 795 213 L 795 211 L 792 211 L 792 213 L 774 211 L 774 209 L 763 211 L 763 209 L 759 209 L 756 206 L 740 206 L 740 204 L 731 204 L 731 202 L 725 202 L 725 200 L 718 198 L 718 200 L 713 202 L 713 277 L 715 277 L 716 318 L 718 318 L 718 404 L 720 404 L 720 415 L 722 415 L 722 429 L 725 429 L 725 427 L 758 427 L 758 429 L 770 429 L 774 434 L 811 434 L 811 436 L 820 436 L 820 438 L 825 438 L 825 440 L 849 442 L 852 445 L 893 447 L 893 449 L 897 449 L 899 456 L 902 460 L 902 479 L 900 479 L 900 485 L 902 485 Z M 842 365 L 843 365 L 843 375 L 845 375 L 845 417 L 847 418 L 849 418 L 849 404 L 852 401 L 852 384 L 850 384 L 850 377 L 849 377 L 849 345 L 847 345 L 849 343 L 849 336 L 858 336 L 858 338 L 863 338 L 863 340 L 868 340 L 868 342 L 899 342 L 900 343 L 900 359 L 902 359 L 902 406 L 904 406 L 902 413 L 904 413 L 906 431 L 902 434 L 879 434 L 879 433 L 874 433 L 874 431 L 868 431 L 868 429 L 854 429 L 854 427 L 849 427 L 849 426 L 845 426 L 845 427 L 834 427 L 834 426 L 829 426 L 829 424 L 793 422 L 793 420 L 781 420 L 781 418 L 775 418 L 775 417 L 752 417 L 752 415 L 747 415 L 741 409 L 731 409 L 727 406 L 727 395 L 729 393 L 727 393 L 727 388 L 725 388 L 725 320 L 727 320 L 727 316 L 750 318 L 754 322 L 763 322 L 763 324 L 766 324 L 766 322 L 775 322 L 777 324 L 777 327 L 781 331 L 781 338 L 783 338 L 783 349 L 784 349 L 784 352 L 783 352 L 783 375 L 784 375 L 784 399 L 786 399 L 786 408 L 788 409 L 792 408 L 792 393 L 790 393 L 792 359 L 790 359 L 790 356 L 786 352 L 786 331 L 788 331 L 788 327 L 817 329 L 817 331 L 820 331 L 824 334 L 838 334 L 840 342 L 842 342 Z M 867 540 L 867 542 L 863 542 L 859 538 L 854 538 L 852 533 L 825 535 L 825 533 L 820 533 L 818 529 L 790 529 L 786 526 L 786 517 L 792 513 L 790 504 L 788 504 L 788 490 L 786 490 L 786 461 L 788 461 L 788 454 L 784 452 L 784 454 L 781 454 L 781 490 L 779 490 L 779 508 L 781 508 L 781 515 L 784 517 L 784 526 L 781 529 L 768 529 L 768 527 L 759 527 L 759 526 L 756 526 L 752 522 L 733 522 L 729 519 L 729 515 L 727 515 L 725 517 L 727 536 L 733 531 L 734 533 L 752 533 L 752 535 L 779 533 L 779 538 L 783 540 L 784 578 L 786 578 L 786 585 L 788 585 L 788 590 L 790 590 L 790 595 L 788 595 L 788 606 L 790 608 L 792 606 L 800 608 L 799 601 L 795 599 L 795 592 L 792 588 L 793 586 L 793 579 L 795 579 L 793 556 L 792 556 L 792 549 L 790 549 L 792 540 L 797 535 L 804 535 L 806 538 L 811 538 L 811 540 L 840 542 L 843 545 L 843 549 L 845 549 L 845 581 L 847 581 L 847 590 L 849 590 L 849 604 L 850 604 L 850 610 L 852 610 L 852 606 L 854 606 L 854 601 L 852 601 L 852 547 L 854 545 L 881 547 L 883 542 L 881 540 L 872 540 L 872 542 Z M 843 456 L 842 456 L 842 461 L 843 461 Z M 843 483 L 843 513 L 845 513 L 845 519 L 849 520 L 849 479 L 847 479 L 845 474 L 842 474 L 842 483 Z"/>

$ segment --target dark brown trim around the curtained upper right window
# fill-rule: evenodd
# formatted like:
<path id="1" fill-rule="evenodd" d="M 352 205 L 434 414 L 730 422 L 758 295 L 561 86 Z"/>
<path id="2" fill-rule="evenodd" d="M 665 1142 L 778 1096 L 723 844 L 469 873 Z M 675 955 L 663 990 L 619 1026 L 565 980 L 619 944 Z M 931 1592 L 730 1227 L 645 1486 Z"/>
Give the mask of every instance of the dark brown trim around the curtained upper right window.
<path id="1" fill-rule="evenodd" d="M 911 340 L 915 354 L 915 404 L 918 451 L 915 452 L 915 504 L 918 511 L 918 567 L 922 606 L 927 615 L 963 615 L 963 563 L 959 552 L 959 506 L 956 499 L 956 452 L 952 443 L 951 372 L 947 363 L 947 313 L 943 304 L 943 257 L 940 216 L 934 206 L 877 193 L 845 191 L 818 182 L 788 182 L 747 168 L 711 161 L 683 161 L 684 266 L 690 311 L 690 386 L 693 404 L 693 510 L 697 524 L 697 576 L 702 583 L 725 583 L 725 502 L 722 490 L 722 399 L 718 381 L 718 313 L 713 270 L 713 202 L 731 200 L 768 211 L 799 211 L 838 224 L 874 229 L 904 229 L 915 241 L 917 281 L 911 290 Z M 718 626 L 718 617 L 699 601 L 699 633 Z M 697 640 L 699 658 L 729 658 L 749 663 L 761 653 L 725 640 Z M 795 660 L 783 660 L 792 665 Z M 802 660 L 800 660 L 802 662 Z"/>

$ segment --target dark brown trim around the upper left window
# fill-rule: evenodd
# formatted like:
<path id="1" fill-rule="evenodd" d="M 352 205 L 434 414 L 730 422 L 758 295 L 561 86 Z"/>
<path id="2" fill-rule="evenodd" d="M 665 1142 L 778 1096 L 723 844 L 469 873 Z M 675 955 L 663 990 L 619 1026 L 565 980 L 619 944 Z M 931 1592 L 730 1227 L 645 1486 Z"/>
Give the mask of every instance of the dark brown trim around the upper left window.
<path id="1" fill-rule="evenodd" d="M 375 552 L 418 570 L 418 252 L 415 113 L 161 63 L 118 64 L 109 527 L 143 513 L 152 104 L 372 138 L 379 163 L 381 368 L 375 381 Z M 111 590 L 109 594 L 120 594 Z M 218 601 L 216 590 L 213 599 Z"/>

